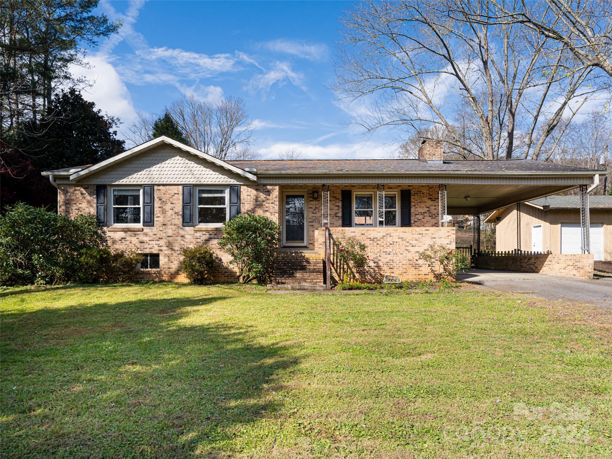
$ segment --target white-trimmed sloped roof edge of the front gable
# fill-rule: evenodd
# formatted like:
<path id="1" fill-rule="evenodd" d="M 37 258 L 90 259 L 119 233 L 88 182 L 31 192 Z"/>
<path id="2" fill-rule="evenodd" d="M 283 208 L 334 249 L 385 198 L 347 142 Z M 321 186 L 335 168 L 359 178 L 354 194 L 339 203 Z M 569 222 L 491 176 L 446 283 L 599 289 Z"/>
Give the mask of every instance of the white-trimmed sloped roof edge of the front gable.
<path id="1" fill-rule="evenodd" d="M 257 181 L 257 177 L 255 175 L 253 175 L 252 173 L 245 171 L 244 169 L 240 168 L 239 166 L 230 164 L 228 162 L 225 162 L 223 160 L 220 160 L 218 158 L 215 158 L 214 156 L 211 156 L 209 154 L 206 154 L 204 152 L 201 152 L 200 150 L 196 150 L 193 147 L 187 146 L 181 142 L 177 142 L 176 140 L 171 139 L 170 137 L 166 137 L 165 135 L 161 136 L 161 137 L 157 137 L 153 140 L 149 140 L 148 142 L 145 142 L 143 144 L 140 144 L 138 146 L 135 146 L 133 148 L 130 148 L 127 151 L 124 151 L 123 153 L 120 153 L 118 155 L 114 155 L 113 157 L 110 157 L 108 159 L 105 159 L 103 161 L 100 161 L 97 164 L 94 165 L 90 165 L 90 166 L 83 166 L 82 169 L 75 171 L 78 168 L 72 168 L 69 169 L 69 173 L 70 173 L 70 180 L 80 180 L 83 177 L 87 177 L 90 176 L 91 174 L 94 174 L 96 172 L 99 172 L 111 165 L 114 165 L 116 163 L 122 162 L 126 159 L 129 159 L 130 157 L 133 157 L 135 155 L 138 155 L 142 152 L 151 150 L 154 147 L 160 146 L 161 144 L 169 144 L 171 146 L 177 147 L 183 151 L 186 151 L 188 153 L 191 153 L 193 155 L 196 155 L 204 160 L 207 160 L 211 163 L 215 163 L 218 166 L 221 166 L 222 168 L 225 168 L 226 170 L 232 171 L 236 174 L 239 174 L 243 177 L 247 177 L 247 179 L 250 179 L 252 181 Z M 43 173 L 43 175 L 68 175 L 69 173 L 67 173 L 65 170 L 67 168 L 64 168 L 64 170 L 58 170 L 58 171 L 45 171 L 45 173 Z"/>

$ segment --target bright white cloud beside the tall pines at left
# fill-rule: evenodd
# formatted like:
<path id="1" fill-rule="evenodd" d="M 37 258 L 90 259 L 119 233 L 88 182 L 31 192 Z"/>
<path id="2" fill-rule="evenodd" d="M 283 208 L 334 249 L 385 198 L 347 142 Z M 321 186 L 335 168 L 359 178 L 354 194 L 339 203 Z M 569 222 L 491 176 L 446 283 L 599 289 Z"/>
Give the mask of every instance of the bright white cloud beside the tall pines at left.
<path id="1" fill-rule="evenodd" d="M 128 123 L 136 115 L 132 104 L 130 92 L 121 80 L 121 76 L 108 62 L 104 54 L 93 54 L 88 58 L 89 69 L 72 65 L 70 71 L 75 76 L 83 76 L 91 82 L 91 86 L 84 88 L 83 97 L 94 102 L 100 108 L 113 116 L 119 116 L 121 121 Z"/>

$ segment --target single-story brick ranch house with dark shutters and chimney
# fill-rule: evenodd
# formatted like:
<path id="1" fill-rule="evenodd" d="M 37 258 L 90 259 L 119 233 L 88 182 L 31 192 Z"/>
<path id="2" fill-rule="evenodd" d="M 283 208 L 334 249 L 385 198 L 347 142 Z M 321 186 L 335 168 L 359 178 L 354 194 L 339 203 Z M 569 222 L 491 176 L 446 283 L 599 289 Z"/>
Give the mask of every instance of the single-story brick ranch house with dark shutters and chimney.
<path id="1" fill-rule="evenodd" d="M 342 237 L 368 247 L 362 278 L 428 279 L 417 254 L 432 242 L 455 247 L 448 215 L 586 191 L 599 177 L 533 160 L 444 160 L 442 141 L 424 142 L 418 160 L 222 161 L 164 136 L 94 165 L 42 174 L 58 188 L 59 214 L 95 214 L 110 247 L 144 255 L 138 278 L 184 280 L 181 248 L 207 244 L 222 260 L 218 280 L 236 280 L 217 241 L 223 222 L 252 212 L 283 227 L 272 282 L 328 285 L 338 277 L 334 241 Z M 573 256 L 590 261 L 592 272 L 592 255 Z"/>

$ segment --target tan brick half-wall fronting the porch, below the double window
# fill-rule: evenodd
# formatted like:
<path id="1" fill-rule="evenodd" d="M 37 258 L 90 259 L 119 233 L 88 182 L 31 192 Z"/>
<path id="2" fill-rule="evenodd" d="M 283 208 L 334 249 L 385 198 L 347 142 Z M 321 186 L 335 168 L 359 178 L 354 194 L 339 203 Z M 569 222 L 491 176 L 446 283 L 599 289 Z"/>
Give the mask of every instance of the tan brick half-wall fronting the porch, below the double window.
<path id="1" fill-rule="evenodd" d="M 401 280 L 429 280 L 429 267 L 416 261 L 419 252 L 435 243 L 455 248 L 455 228 L 330 228 L 338 240 L 354 236 L 367 246 L 368 266 L 356 273 L 361 280 L 381 282 L 385 274 Z M 318 228 L 316 248 L 325 252 L 325 228 Z"/>

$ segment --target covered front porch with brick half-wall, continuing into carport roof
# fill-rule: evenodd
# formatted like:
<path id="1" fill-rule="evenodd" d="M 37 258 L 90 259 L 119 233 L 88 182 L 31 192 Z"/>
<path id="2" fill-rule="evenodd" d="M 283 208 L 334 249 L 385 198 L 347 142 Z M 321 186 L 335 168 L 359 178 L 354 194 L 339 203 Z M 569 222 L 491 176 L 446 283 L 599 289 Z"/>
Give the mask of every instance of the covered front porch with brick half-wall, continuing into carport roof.
<path id="1" fill-rule="evenodd" d="M 377 177 L 377 182 L 364 183 L 349 183 L 345 177 L 343 183 L 278 185 L 283 227 L 279 252 L 300 259 L 302 266 L 321 263 L 321 282 L 330 286 L 338 277 L 334 241 L 355 236 L 370 255 L 368 268 L 360 273 L 364 281 L 381 282 L 385 274 L 427 280 L 431 273 L 418 254 L 432 243 L 455 248 L 453 215 L 474 216 L 474 251 L 480 252 L 480 215 L 576 187 L 586 202 L 592 184 L 586 174 L 490 175 L 401 177 L 393 182 L 392 177 Z M 588 219 L 588 206 L 584 214 Z"/>

